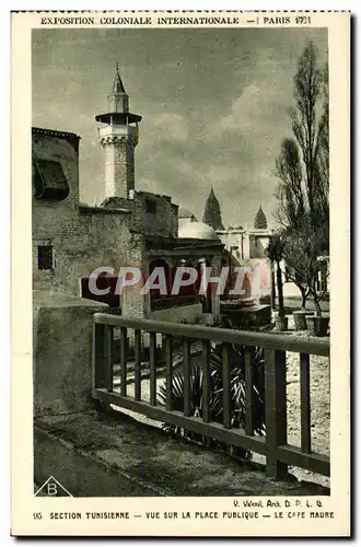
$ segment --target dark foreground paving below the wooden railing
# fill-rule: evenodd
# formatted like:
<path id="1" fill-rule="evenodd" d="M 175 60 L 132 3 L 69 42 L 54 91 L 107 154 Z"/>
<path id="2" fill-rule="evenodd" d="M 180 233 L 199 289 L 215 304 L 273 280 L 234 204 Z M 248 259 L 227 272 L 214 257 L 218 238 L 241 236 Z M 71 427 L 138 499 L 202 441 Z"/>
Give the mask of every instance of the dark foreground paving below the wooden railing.
<path id="1" fill-rule="evenodd" d="M 36 427 L 42 434 L 35 435 L 39 439 L 35 459 L 42 456 L 43 467 L 47 454 L 53 458 L 51 465 L 55 465 L 57 443 L 59 447 L 66 444 L 67 450 L 77 455 L 77 462 L 72 458 L 69 468 L 63 459 L 58 464 L 63 477 L 68 477 L 67 484 L 79 496 L 108 494 L 102 492 L 100 484 L 94 487 L 93 493 L 90 487 L 86 493 L 82 493 L 84 480 L 80 481 L 77 477 L 79 474 L 86 477 L 88 465 L 90 468 L 97 465 L 103 474 L 104 469 L 113 474 L 113 496 L 135 496 L 135 491 L 137 496 L 150 496 L 150 492 L 158 496 L 329 494 L 327 488 L 299 481 L 294 476 L 290 476 L 289 480 L 273 481 L 265 475 L 260 465 L 172 438 L 160 429 L 119 412 L 47 417 L 38 419 Z M 47 441 L 51 445 L 48 449 Z M 42 465 L 38 464 L 38 469 Z M 115 485 L 119 477 L 126 477 L 128 482 L 123 481 L 125 486 L 117 490 Z M 36 476 L 35 479 L 40 482 Z"/>

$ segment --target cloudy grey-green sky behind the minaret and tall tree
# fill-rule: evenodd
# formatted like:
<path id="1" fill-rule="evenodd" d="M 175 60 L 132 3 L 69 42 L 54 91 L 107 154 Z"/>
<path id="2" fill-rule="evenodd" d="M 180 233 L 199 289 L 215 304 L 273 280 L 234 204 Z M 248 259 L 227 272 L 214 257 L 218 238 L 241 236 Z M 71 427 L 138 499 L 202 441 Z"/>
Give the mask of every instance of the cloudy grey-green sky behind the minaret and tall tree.
<path id="1" fill-rule="evenodd" d="M 306 42 L 327 59 L 326 28 L 33 31 L 33 125 L 81 137 L 81 200 L 101 202 L 96 114 L 115 65 L 143 116 L 136 188 L 165 194 L 199 220 L 213 186 L 224 226 L 269 225 L 275 159 L 290 136 L 293 75 Z"/>

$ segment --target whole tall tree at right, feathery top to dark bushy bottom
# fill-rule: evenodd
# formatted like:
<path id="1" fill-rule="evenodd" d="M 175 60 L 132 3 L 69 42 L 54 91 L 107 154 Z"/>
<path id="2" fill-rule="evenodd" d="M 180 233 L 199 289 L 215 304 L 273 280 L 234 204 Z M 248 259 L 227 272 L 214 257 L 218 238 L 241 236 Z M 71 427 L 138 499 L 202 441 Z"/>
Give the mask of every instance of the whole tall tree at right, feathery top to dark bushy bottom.
<path id="1" fill-rule="evenodd" d="M 300 289 L 302 307 L 312 294 L 318 312 L 318 258 L 328 254 L 329 246 L 328 70 L 318 66 L 311 42 L 299 59 L 294 101 L 293 137 L 283 140 L 276 160 L 277 218 L 283 257 Z"/>

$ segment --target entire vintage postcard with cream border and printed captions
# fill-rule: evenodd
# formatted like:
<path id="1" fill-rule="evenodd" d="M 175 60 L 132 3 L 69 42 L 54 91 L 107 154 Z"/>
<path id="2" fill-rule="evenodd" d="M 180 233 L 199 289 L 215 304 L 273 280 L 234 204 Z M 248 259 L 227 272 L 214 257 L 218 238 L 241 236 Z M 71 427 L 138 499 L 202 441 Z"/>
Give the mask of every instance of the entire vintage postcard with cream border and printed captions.
<path id="1" fill-rule="evenodd" d="M 350 13 L 11 48 L 11 533 L 348 536 Z"/>

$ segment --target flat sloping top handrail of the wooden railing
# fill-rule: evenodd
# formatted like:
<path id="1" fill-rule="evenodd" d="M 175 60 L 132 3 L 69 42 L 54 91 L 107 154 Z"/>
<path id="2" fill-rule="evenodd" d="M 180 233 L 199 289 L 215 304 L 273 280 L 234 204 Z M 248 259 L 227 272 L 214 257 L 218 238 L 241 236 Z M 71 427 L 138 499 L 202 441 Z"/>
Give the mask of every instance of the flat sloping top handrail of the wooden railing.
<path id="1" fill-rule="evenodd" d="M 329 357 L 329 340 L 317 338 L 300 339 L 294 335 L 276 335 L 271 333 L 253 333 L 249 330 L 232 330 L 229 328 L 206 327 L 202 325 L 184 325 L 163 321 L 135 319 L 127 316 L 94 314 L 94 322 L 113 327 L 128 327 L 148 333 L 179 336 L 185 338 L 200 338 L 218 342 L 238 344 L 243 346 L 259 346 L 265 349 L 294 351 Z"/>

